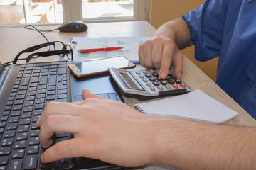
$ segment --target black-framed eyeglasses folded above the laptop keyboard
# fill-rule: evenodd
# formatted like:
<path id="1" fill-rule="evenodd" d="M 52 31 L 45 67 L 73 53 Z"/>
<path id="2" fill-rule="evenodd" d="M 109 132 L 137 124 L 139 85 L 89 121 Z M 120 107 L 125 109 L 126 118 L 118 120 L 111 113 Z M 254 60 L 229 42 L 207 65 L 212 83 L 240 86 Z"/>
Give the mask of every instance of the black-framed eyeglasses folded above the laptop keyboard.
<path id="1" fill-rule="evenodd" d="M 56 44 L 62 45 L 62 49 L 61 50 L 56 50 L 56 46 L 57 46 Z M 51 45 L 53 45 L 54 50 L 50 50 Z M 71 54 L 71 60 L 73 60 L 73 49 L 72 49 L 70 43 L 68 45 L 65 45 L 61 41 L 53 41 L 53 42 L 46 42 L 46 43 L 43 43 L 43 44 L 40 44 L 40 45 L 35 45 L 33 47 L 28 47 L 27 49 L 22 50 L 14 58 L 13 64 L 17 63 L 18 57 L 20 57 L 23 53 L 33 52 L 33 51 L 41 49 L 43 47 L 49 47 L 48 51 L 34 52 L 33 54 L 28 55 L 28 57 L 26 57 L 26 62 L 29 62 L 32 57 L 48 57 L 48 56 L 51 56 L 51 55 L 63 55 L 63 57 L 66 55 L 68 57 L 68 54 Z"/>

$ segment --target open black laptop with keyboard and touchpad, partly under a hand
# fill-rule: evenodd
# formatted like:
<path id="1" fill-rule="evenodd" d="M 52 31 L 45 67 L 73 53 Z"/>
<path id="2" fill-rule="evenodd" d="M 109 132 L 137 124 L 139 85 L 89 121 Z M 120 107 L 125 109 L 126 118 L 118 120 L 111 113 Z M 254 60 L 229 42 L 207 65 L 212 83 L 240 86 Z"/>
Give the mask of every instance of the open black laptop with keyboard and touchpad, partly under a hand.
<path id="1" fill-rule="evenodd" d="M 77 79 L 68 62 L 14 64 L 0 68 L 0 169 L 121 169 L 84 157 L 42 164 L 36 120 L 49 102 L 81 101 L 84 88 L 116 101 L 121 94 L 110 74 Z M 70 134 L 55 134 L 53 141 Z"/>

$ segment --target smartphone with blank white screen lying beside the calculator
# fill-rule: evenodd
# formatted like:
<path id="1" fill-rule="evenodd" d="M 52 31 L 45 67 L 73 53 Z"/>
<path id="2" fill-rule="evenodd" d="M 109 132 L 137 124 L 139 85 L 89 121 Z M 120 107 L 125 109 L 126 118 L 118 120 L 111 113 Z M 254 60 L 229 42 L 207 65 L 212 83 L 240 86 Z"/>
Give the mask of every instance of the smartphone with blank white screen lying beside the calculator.
<path id="1" fill-rule="evenodd" d="M 131 69 L 135 67 L 135 64 L 122 56 L 107 57 L 103 59 L 68 64 L 68 68 L 71 70 L 71 72 L 75 75 L 75 77 L 79 78 L 108 72 L 109 67 Z"/>

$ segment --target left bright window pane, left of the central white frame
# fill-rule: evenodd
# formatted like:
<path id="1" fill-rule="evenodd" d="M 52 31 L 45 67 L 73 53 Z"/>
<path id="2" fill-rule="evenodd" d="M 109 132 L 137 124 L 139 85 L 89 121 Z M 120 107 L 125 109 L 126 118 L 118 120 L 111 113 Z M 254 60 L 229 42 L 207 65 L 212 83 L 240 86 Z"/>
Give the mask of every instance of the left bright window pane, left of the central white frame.
<path id="1" fill-rule="evenodd" d="M 62 22 L 60 0 L 0 0 L 0 24 Z"/>

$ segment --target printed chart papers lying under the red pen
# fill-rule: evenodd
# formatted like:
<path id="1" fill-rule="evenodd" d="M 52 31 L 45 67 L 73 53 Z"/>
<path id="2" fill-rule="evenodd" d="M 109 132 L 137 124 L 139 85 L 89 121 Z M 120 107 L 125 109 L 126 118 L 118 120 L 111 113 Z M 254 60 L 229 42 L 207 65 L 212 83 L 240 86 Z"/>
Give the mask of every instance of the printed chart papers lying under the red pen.
<path id="1" fill-rule="evenodd" d="M 105 57 L 124 56 L 131 62 L 139 62 L 138 50 L 141 45 L 150 37 L 102 37 L 86 38 L 73 37 L 71 41 L 76 42 L 74 60 L 91 60 Z M 101 47 L 123 47 L 121 50 L 80 53 L 81 49 L 93 49 Z"/>

